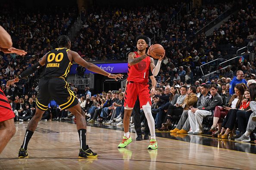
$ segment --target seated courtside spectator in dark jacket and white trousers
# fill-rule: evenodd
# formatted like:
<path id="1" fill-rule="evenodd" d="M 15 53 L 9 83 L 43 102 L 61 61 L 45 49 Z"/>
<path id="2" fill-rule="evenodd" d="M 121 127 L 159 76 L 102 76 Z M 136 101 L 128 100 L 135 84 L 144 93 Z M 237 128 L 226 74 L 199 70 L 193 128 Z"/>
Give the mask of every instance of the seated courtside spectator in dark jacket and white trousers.
<path id="1" fill-rule="evenodd" d="M 215 106 L 222 105 L 222 97 L 218 94 L 218 88 L 215 84 L 210 87 L 211 97 L 206 101 L 204 106 L 193 108 L 188 112 L 191 131 L 188 134 L 201 134 L 203 118 L 211 115 Z M 201 101 L 202 102 L 202 101 Z"/>

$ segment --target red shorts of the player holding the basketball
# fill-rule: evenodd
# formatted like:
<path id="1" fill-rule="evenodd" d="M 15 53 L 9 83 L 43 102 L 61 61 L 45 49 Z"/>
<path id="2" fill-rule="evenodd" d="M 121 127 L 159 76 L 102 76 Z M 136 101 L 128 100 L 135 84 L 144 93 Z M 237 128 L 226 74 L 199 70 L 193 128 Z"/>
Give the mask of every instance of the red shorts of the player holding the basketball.
<path id="1" fill-rule="evenodd" d="M 125 104 L 129 108 L 133 108 L 134 104 L 137 100 L 137 96 L 140 100 L 140 108 L 147 104 L 147 102 L 151 105 L 150 100 L 150 90 L 148 83 L 137 83 L 137 82 L 128 82 L 127 88 L 125 91 Z"/>

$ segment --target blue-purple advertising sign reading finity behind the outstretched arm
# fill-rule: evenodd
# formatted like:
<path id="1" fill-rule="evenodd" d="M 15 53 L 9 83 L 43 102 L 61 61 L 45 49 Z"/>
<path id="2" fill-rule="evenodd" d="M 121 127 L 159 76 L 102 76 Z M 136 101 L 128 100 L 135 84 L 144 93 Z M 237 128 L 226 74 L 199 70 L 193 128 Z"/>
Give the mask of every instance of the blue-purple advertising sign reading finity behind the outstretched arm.
<path id="1" fill-rule="evenodd" d="M 108 63 L 108 64 L 95 64 L 101 69 L 105 70 L 108 73 L 127 73 L 128 64 L 127 63 Z M 70 69 L 70 74 L 76 74 L 76 68 L 78 64 L 73 64 Z M 94 73 L 89 70 L 85 70 L 85 74 Z"/>

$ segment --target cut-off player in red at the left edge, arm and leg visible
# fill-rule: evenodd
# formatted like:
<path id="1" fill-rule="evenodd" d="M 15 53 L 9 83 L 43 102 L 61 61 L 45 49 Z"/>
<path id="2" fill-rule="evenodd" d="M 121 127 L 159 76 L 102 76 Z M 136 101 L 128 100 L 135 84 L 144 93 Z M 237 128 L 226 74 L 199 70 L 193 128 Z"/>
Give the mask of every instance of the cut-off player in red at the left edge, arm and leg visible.
<path id="1" fill-rule="evenodd" d="M 0 26 L 0 51 L 4 53 L 16 53 L 25 55 L 27 52 L 12 47 L 12 39 L 9 33 Z M 11 105 L 0 88 L 0 153 L 15 134 L 13 118 L 15 117 Z"/>

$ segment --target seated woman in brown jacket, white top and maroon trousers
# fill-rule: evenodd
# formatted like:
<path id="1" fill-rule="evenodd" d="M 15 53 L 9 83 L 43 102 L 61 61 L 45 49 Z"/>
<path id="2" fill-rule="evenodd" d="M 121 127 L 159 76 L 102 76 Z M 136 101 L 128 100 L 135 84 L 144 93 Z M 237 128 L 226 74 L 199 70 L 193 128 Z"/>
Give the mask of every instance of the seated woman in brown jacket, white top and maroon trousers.
<path id="1" fill-rule="evenodd" d="M 232 95 L 231 99 L 228 102 L 228 106 L 216 106 L 214 110 L 214 117 L 213 117 L 213 124 L 210 129 L 211 132 L 217 131 L 217 125 L 218 129 L 220 131 L 221 129 L 221 118 L 225 118 L 225 116 L 228 114 L 228 111 L 230 109 L 238 109 L 242 103 L 242 100 L 244 99 L 244 87 L 241 84 L 238 84 L 234 87 L 235 94 Z"/>

